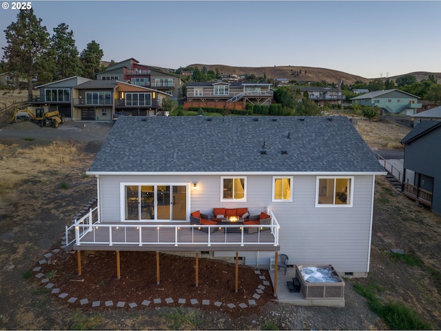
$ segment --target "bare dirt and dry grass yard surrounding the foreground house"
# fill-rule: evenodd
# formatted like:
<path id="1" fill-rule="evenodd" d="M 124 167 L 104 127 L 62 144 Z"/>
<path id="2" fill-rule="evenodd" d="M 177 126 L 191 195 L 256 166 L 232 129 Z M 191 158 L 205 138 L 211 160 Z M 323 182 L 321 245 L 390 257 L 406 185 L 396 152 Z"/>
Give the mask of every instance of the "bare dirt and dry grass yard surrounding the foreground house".
<path id="1" fill-rule="evenodd" d="M 200 286 L 194 285 L 194 259 L 161 254 L 161 283 L 156 285 L 151 254 L 121 252 L 121 279 L 116 279 L 114 252 L 83 255 L 83 274 L 77 275 L 74 255 L 52 253 L 61 246 L 66 224 L 96 196 L 96 181 L 85 175 L 111 126 L 65 123 L 36 128 L 14 123 L 0 128 L 0 328 L 26 330 L 380 330 L 387 325 L 369 310 L 354 283 L 375 285 L 384 302 L 399 301 L 416 310 L 434 329 L 441 329 L 441 218 L 418 207 L 377 179 L 371 272 L 367 279 L 347 279 L 345 308 L 293 307 L 271 299 L 265 289 L 258 306 L 245 310 L 225 307 L 193 308 L 163 303 L 128 308 L 130 302 L 155 297 L 247 302 L 261 283 L 253 268 L 240 268 L 240 290 L 234 291 L 232 265 L 201 259 Z M 362 123 L 376 130 L 378 123 Z M 392 132 L 395 123 L 379 123 Z M 357 127 L 356 126 L 356 127 Z M 371 126 L 371 128 L 370 128 Z M 387 129 L 389 126 L 389 129 Z M 89 133 L 88 130 L 92 131 Z M 360 130 L 361 128 L 358 128 Z M 397 130 L 398 131 L 398 130 Z M 409 129 L 407 129 L 409 131 Z M 37 133 L 34 133 L 37 132 Z M 60 134 L 59 132 L 65 132 Z M 47 134 L 47 135 L 46 135 Z M 401 134 L 401 133 L 400 133 Z M 52 135 L 52 138 L 51 138 Z M 79 139 L 75 139 L 79 136 Z M 399 141 L 402 137 L 393 137 Z M 53 138 L 55 137 L 55 138 Z M 87 139 L 85 137 L 88 137 Z M 404 136 L 403 136 L 404 137 Z M 373 139 L 375 140 L 375 139 Z M 409 265 L 391 254 L 392 248 L 415 257 Z M 41 259 L 49 263 L 40 264 Z M 143 261 L 143 263 L 139 263 Z M 79 299 L 112 301 L 112 307 L 88 308 L 68 303 L 34 277 L 41 266 L 44 278 L 61 292 Z M 99 272 L 89 272 L 99 270 Z M 127 272 L 127 270 L 132 270 Z M 265 270 L 260 270 L 267 276 Z M 216 275 L 214 277 L 213 275 Z M 279 284 L 283 285 L 283 284 Z M 116 308 L 127 301 L 125 308 Z"/>

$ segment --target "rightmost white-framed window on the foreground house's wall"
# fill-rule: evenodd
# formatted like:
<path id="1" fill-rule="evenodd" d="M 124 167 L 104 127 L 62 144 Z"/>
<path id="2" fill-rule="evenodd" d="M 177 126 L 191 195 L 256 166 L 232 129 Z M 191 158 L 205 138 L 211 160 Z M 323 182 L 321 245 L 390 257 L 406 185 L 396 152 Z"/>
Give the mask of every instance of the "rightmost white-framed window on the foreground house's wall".
<path id="1" fill-rule="evenodd" d="M 352 207 L 353 177 L 317 177 L 316 207 Z"/>

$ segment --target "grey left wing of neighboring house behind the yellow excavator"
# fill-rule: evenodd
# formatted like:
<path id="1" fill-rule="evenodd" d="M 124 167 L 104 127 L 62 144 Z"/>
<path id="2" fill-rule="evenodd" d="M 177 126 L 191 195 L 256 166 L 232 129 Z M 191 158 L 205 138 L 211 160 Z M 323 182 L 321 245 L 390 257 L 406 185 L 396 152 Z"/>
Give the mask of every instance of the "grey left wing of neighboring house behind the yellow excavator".
<path id="1" fill-rule="evenodd" d="M 59 110 L 65 117 L 72 117 L 72 88 L 86 81 L 92 80 L 74 76 L 36 86 L 40 91 L 40 99 L 32 105 L 44 108 L 45 112 Z"/>

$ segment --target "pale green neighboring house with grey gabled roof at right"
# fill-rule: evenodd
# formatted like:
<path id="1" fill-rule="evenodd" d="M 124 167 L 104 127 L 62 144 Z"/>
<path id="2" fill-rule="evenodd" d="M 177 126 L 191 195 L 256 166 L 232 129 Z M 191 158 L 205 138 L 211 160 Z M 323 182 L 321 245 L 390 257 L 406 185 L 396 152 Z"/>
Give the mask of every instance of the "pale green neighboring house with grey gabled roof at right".
<path id="1" fill-rule="evenodd" d="M 391 114 L 416 114 L 422 104 L 418 103 L 420 97 L 397 90 L 381 90 L 362 94 L 351 99 L 352 104 L 357 102 L 360 106 L 376 106 Z"/>

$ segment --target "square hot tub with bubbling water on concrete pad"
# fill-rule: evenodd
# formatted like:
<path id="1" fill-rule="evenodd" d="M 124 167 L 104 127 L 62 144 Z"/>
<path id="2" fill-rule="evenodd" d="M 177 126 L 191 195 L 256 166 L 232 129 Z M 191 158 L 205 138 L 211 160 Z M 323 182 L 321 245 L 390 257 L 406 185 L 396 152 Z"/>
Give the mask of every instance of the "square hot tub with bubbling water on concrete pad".
<path id="1" fill-rule="evenodd" d="M 332 265 L 296 265 L 304 299 L 343 299 L 345 281 Z"/>

